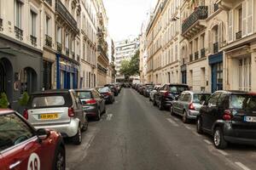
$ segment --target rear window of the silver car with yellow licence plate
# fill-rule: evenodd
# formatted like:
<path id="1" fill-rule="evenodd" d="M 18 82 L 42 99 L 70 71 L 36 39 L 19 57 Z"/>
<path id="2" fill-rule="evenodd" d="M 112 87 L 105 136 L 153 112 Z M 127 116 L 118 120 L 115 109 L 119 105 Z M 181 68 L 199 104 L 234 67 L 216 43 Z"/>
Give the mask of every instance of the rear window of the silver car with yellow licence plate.
<path id="1" fill-rule="evenodd" d="M 65 105 L 63 96 L 38 96 L 32 99 L 32 108 Z"/>

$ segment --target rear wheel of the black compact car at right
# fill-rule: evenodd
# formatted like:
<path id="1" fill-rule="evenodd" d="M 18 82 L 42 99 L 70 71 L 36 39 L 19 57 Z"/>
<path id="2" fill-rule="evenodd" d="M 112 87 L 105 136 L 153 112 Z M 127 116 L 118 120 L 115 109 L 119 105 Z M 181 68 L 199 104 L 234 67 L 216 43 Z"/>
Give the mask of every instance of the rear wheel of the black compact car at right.
<path id="1" fill-rule="evenodd" d="M 224 139 L 224 134 L 220 127 L 216 127 L 213 133 L 213 143 L 216 148 L 224 150 L 228 143 Z"/>

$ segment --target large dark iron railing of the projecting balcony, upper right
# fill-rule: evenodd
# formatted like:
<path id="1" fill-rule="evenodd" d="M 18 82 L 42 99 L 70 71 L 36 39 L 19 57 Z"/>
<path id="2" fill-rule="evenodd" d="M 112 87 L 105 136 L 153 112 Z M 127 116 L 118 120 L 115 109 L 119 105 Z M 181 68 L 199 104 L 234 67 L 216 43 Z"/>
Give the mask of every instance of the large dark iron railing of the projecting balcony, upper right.
<path id="1" fill-rule="evenodd" d="M 189 18 L 184 20 L 182 25 L 182 33 L 187 31 L 190 26 L 194 25 L 198 20 L 205 20 L 208 17 L 208 7 L 207 6 L 199 6 L 195 8 L 195 11 L 189 15 Z"/>

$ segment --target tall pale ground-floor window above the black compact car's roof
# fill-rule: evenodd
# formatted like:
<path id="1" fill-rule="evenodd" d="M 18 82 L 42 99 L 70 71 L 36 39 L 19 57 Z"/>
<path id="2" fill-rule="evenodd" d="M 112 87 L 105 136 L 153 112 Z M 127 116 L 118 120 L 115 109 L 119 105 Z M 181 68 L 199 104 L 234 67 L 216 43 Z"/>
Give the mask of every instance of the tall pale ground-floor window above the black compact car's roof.
<path id="1" fill-rule="evenodd" d="M 252 88 L 251 58 L 239 59 L 239 90 L 250 91 Z"/>

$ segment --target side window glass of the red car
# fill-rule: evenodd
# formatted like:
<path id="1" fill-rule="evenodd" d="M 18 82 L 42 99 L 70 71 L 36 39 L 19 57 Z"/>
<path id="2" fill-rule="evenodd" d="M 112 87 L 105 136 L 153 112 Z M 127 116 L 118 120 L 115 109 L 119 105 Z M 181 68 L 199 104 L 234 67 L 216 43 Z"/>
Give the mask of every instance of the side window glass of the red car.
<path id="1" fill-rule="evenodd" d="M 0 151 L 20 144 L 33 135 L 32 129 L 15 113 L 0 116 Z"/>

